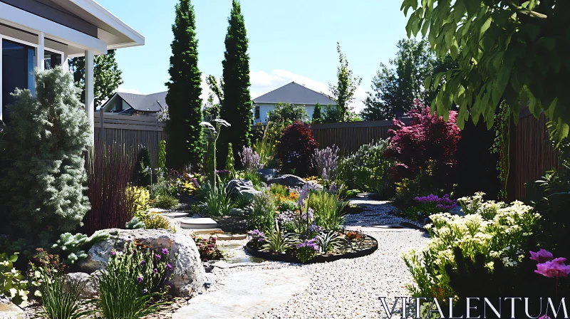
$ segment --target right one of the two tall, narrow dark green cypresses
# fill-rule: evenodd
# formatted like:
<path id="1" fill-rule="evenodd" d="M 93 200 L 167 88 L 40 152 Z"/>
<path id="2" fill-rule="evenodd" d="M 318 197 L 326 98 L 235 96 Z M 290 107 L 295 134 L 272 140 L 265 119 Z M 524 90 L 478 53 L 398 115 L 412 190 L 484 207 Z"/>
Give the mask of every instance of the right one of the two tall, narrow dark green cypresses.
<path id="1" fill-rule="evenodd" d="M 249 95 L 249 55 L 247 54 L 247 33 L 244 16 L 239 1 L 232 1 L 232 13 L 228 19 L 229 26 L 226 34 L 226 51 L 224 52 L 223 90 L 224 101 L 220 117 L 232 126 L 222 131 L 224 146 L 220 150 L 220 160 L 227 157 L 227 143 L 232 143 L 234 160 L 240 164 L 238 152 L 244 146 L 249 146 L 252 136 L 252 98 Z M 225 163 L 219 163 L 224 167 Z"/>

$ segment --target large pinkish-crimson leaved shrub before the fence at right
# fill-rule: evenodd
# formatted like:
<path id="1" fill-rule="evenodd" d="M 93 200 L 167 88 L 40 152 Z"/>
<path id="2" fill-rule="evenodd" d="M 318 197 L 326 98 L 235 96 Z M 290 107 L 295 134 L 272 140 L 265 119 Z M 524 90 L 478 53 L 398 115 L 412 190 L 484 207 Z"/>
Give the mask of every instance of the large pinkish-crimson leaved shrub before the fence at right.
<path id="1" fill-rule="evenodd" d="M 395 128 L 388 130 L 392 137 L 386 155 L 396 161 L 393 176 L 396 182 L 415 177 L 421 169 L 427 169 L 428 163 L 440 177 L 450 175 L 457 164 L 455 152 L 460 140 L 457 112 L 450 111 L 449 120 L 445 122 L 442 116 L 430 115 L 430 108 L 419 100 L 414 104 L 415 110 L 408 112 L 412 118 L 410 123 L 404 125 L 394 120 Z"/>

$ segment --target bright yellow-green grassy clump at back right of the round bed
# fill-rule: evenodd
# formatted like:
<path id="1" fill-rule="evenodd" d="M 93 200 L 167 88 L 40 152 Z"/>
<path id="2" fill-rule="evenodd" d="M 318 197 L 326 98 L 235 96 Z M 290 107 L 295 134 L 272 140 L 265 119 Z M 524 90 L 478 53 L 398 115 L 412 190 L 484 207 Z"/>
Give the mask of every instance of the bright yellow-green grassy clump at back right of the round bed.
<path id="1" fill-rule="evenodd" d="M 338 231 L 344 224 L 347 204 L 338 195 L 323 191 L 311 192 L 309 197 L 309 207 L 314 210 L 314 223 L 331 231 Z"/>

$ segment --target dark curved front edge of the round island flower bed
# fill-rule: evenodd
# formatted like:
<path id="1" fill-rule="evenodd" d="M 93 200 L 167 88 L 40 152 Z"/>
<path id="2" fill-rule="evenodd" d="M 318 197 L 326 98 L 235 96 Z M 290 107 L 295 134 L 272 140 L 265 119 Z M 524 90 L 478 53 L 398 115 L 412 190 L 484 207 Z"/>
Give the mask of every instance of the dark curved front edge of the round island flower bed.
<path id="1" fill-rule="evenodd" d="M 366 234 L 361 235 L 363 237 L 361 247 L 354 247 L 351 246 L 347 249 L 345 253 L 333 253 L 333 254 L 324 254 L 324 255 L 317 255 L 311 260 L 307 261 L 306 263 L 325 263 L 328 261 L 338 261 L 339 259 L 345 258 L 358 258 L 363 256 L 368 256 L 376 249 L 378 249 L 378 241 L 374 239 L 372 236 L 368 236 Z M 271 253 L 269 251 L 261 251 L 257 249 L 254 244 L 254 241 L 249 241 L 245 245 L 245 249 L 248 253 L 252 256 L 264 258 L 270 261 L 285 261 L 286 263 L 301 263 L 299 258 L 293 253 Z"/>

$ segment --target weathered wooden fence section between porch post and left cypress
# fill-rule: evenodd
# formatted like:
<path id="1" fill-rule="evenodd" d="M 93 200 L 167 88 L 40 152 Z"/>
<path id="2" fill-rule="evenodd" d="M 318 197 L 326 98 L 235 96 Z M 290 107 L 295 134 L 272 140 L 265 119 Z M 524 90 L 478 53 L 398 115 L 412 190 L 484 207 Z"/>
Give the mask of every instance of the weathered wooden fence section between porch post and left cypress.
<path id="1" fill-rule="evenodd" d="M 138 147 L 147 147 L 153 167 L 157 167 L 158 144 L 166 140 L 165 124 L 154 116 L 95 114 L 95 146 L 118 143 L 135 158 Z"/>

